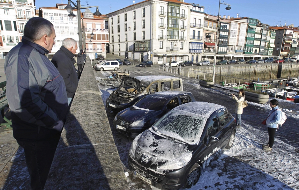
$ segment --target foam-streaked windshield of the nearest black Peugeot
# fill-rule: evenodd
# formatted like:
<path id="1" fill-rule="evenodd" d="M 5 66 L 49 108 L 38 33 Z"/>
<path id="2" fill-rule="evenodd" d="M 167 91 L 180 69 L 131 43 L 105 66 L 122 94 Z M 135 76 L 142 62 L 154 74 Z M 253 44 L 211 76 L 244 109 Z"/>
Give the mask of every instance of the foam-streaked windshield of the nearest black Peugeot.
<path id="1" fill-rule="evenodd" d="M 194 145 L 200 140 L 205 124 L 205 117 L 172 110 L 159 119 L 153 127 L 162 135 Z"/>

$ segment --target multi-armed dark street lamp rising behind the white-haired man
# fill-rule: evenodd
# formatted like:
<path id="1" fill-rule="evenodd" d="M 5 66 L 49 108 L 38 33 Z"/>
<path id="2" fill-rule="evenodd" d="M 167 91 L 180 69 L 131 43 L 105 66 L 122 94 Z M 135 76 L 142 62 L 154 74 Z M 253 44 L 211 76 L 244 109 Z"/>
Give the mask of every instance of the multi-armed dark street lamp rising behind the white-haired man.
<path id="1" fill-rule="evenodd" d="M 71 3 L 75 6 L 73 7 L 71 5 Z M 93 13 L 93 15 L 102 15 L 99 12 L 99 7 L 98 6 L 92 6 L 92 7 L 97 7 L 96 12 Z M 76 15 L 73 13 L 73 10 L 76 8 L 77 9 L 77 17 L 78 17 L 78 35 L 79 35 L 79 47 L 80 49 L 82 49 L 82 29 L 81 29 L 81 9 L 87 9 L 87 8 L 92 8 L 92 7 L 81 7 L 80 5 L 80 0 L 77 0 L 77 4 L 75 4 L 74 2 L 72 2 L 71 0 L 69 0 L 68 5 L 65 7 L 65 9 L 69 12 L 69 17 L 71 19 L 73 19 L 74 17 L 76 17 Z"/>

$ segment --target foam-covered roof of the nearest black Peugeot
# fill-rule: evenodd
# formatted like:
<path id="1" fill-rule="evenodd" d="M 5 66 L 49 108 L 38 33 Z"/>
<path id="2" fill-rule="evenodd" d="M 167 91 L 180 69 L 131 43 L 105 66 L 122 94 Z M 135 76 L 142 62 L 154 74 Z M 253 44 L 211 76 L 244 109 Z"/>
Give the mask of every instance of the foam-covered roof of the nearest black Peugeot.
<path id="1" fill-rule="evenodd" d="M 198 116 L 206 117 L 208 118 L 213 112 L 216 110 L 224 108 L 224 106 L 214 104 L 214 103 L 208 103 L 208 102 L 189 102 L 185 103 L 183 105 L 180 105 L 178 107 L 173 108 L 173 110 L 178 110 L 182 112 L 189 112 L 193 113 Z"/>

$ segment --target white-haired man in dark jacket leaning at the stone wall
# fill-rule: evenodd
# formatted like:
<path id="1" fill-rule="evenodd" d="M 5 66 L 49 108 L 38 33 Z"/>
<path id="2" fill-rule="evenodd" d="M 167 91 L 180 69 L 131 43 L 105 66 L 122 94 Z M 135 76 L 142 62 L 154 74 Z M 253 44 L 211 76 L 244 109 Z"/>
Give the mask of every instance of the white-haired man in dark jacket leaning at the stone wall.
<path id="1" fill-rule="evenodd" d="M 74 56 L 77 49 L 76 40 L 65 38 L 62 40 L 61 48 L 54 54 L 51 60 L 63 77 L 69 105 L 78 87 L 78 77 L 74 66 L 74 63 L 76 63 Z"/>

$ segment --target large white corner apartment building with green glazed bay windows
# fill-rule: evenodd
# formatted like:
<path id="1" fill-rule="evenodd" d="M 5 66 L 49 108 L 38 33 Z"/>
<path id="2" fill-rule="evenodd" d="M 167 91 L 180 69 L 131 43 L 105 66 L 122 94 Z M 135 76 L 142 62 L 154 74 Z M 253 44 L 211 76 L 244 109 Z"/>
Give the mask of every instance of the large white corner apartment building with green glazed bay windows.
<path id="1" fill-rule="evenodd" d="M 146 0 L 107 14 L 111 53 L 158 64 L 187 60 L 192 7 L 183 0 Z"/>

